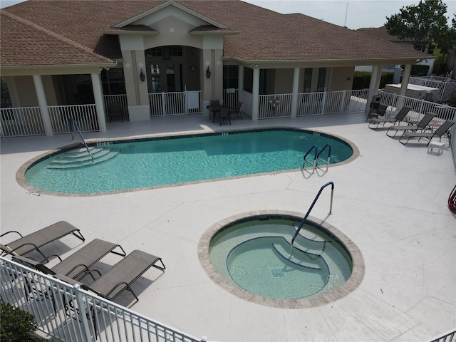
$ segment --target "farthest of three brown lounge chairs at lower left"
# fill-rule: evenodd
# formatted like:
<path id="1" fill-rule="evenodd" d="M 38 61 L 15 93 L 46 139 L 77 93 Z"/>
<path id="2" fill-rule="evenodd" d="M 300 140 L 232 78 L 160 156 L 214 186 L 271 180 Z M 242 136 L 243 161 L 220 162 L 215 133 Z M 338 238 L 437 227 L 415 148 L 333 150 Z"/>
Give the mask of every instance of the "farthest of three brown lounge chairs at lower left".
<path id="1" fill-rule="evenodd" d="M 21 237 L 20 239 L 14 240 L 13 242 L 4 243 L 4 246 L 1 250 L 1 255 L 12 254 L 13 252 L 17 255 L 25 255 L 30 252 L 36 251 L 40 253 L 43 257 L 43 253 L 40 251 L 40 247 L 50 244 L 62 237 L 65 237 L 68 234 L 73 234 L 75 237 L 81 241 L 86 241 L 86 239 L 81 234 L 80 230 L 69 224 L 66 221 L 60 221 L 54 224 L 51 224 L 48 227 L 38 230 L 37 232 L 22 236 L 21 233 L 11 230 L 4 234 L 1 234 L 0 237 L 4 237 L 6 234 L 16 233 Z M 46 258 L 46 257 L 44 257 Z"/>

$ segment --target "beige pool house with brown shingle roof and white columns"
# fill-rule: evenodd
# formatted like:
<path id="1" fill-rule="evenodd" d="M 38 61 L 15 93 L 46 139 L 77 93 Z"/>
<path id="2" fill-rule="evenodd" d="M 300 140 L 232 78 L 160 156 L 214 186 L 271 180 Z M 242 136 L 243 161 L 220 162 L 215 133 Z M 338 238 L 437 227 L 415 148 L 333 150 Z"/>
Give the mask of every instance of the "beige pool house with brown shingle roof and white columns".
<path id="1" fill-rule="evenodd" d="M 46 135 L 68 131 L 70 116 L 103 132 L 113 102 L 138 121 L 240 100 L 258 120 L 261 95 L 288 94 L 294 117 L 301 93 L 351 90 L 356 66 L 374 66 L 371 98 L 383 65 L 405 65 L 408 80 L 428 56 L 233 0 L 29 0 L 0 14 L 1 125 L 21 116 Z"/>

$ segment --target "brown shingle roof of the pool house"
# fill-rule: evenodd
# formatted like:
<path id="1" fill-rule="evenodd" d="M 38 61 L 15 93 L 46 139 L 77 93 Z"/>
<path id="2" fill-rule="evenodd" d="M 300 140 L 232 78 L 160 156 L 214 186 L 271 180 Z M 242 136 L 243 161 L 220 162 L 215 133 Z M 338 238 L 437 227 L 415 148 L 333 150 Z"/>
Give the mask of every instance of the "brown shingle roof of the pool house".
<path id="1" fill-rule="evenodd" d="M 165 2 L 28 0 L 2 9 L 0 63 L 2 66 L 19 66 L 119 59 L 118 38 L 104 32 L 112 32 L 116 24 Z M 427 56 L 303 14 L 279 14 L 237 0 L 175 2 L 228 27 L 225 30 L 213 27 L 210 31 L 239 32 L 224 36 L 225 58 L 242 61 L 366 61 Z M 199 27 L 195 31 L 206 29 Z"/>

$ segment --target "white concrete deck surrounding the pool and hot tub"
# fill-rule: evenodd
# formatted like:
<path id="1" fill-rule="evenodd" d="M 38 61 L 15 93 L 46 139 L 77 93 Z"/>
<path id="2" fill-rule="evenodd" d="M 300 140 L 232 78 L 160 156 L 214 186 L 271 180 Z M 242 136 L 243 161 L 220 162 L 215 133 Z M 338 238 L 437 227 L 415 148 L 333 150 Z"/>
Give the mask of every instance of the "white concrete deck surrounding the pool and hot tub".
<path id="1" fill-rule="evenodd" d="M 284 126 L 340 135 L 360 155 L 314 175 L 284 172 L 94 197 L 37 196 L 16 182 L 24 162 L 71 144 L 71 135 L 1 139 L 1 232 L 27 234 L 66 220 L 87 241 L 108 239 L 126 252 L 162 257 L 165 273 L 150 269 L 135 283 L 140 301 L 131 309 L 208 341 L 428 341 L 456 326 L 456 218 L 447 207 L 456 184 L 452 153 L 427 153 L 423 142 L 403 146 L 365 119 L 360 113 L 232 120 L 222 128 L 202 115 L 108 123 L 107 133 L 85 138 Z M 323 192 L 311 215 L 361 250 L 366 271 L 355 291 L 324 306 L 276 309 L 239 299 L 209 279 L 197 246 L 212 224 L 264 209 L 304 216 L 330 181 L 333 214 Z M 53 248 L 63 257 L 81 247 L 61 241 Z M 130 301 L 127 293 L 117 302 Z"/>

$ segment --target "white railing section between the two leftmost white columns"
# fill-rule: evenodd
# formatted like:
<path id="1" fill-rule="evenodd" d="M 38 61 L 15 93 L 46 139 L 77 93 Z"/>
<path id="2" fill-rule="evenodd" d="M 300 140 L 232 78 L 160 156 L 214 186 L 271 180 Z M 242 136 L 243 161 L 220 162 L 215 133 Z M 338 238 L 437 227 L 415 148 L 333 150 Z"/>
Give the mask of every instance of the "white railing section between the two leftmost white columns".
<path id="1" fill-rule="evenodd" d="M 95 105 L 53 105 L 48 110 L 54 134 L 72 132 L 70 118 L 76 120 L 81 132 L 98 130 Z"/>

